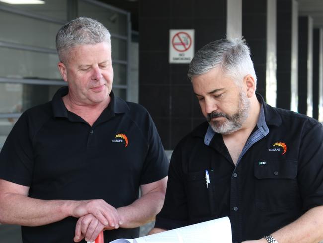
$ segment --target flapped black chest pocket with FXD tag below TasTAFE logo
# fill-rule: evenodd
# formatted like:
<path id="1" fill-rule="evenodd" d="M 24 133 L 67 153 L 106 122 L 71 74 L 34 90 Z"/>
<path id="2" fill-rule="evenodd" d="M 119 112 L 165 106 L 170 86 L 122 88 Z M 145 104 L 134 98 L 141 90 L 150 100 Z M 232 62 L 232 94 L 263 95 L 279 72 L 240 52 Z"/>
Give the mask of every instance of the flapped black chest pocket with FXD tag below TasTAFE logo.
<path id="1" fill-rule="evenodd" d="M 297 160 L 275 160 L 254 164 L 255 204 L 262 211 L 295 208 L 300 202 Z"/>

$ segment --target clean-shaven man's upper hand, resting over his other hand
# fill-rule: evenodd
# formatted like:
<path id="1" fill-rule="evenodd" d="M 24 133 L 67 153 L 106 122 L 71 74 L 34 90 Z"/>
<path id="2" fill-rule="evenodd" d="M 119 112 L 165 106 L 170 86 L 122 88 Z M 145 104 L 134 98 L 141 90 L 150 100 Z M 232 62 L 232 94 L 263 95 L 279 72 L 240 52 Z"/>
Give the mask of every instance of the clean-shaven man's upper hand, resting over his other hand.
<path id="1" fill-rule="evenodd" d="M 74 201 L 71 216 L 80 218 L 92 214 L 102 225 L 118 228 L 122 224 L 117 210 L 102 199 Z"/>

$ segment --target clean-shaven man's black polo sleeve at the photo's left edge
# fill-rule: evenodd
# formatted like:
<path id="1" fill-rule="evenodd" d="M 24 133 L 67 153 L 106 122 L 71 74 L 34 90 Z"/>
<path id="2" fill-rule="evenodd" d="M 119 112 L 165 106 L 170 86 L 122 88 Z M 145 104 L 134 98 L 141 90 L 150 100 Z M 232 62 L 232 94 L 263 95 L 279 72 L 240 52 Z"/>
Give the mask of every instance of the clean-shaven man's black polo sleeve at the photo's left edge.
<path id="1" fill-rule="evenodd" d="M 24 186 L 31 184 L 34 157 L 28 123 L 28 116 L 23 113 L 0 153 L 0 178 Z"/>

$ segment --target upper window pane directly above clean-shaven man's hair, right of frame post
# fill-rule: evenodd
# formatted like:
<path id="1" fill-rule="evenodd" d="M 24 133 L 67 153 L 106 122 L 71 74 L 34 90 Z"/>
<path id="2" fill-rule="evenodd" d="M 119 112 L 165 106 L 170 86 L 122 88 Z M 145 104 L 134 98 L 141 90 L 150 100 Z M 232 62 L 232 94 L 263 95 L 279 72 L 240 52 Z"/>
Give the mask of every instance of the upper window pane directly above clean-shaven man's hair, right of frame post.
<path id="1" fill-rule="evenodd" d="M 127 36 L 127 15 L 118 13 L 105 7 L 90 4 L 82 0 L 78 1 L 79 16 L 91 17 L 102 24 L 111 32 Z"/>

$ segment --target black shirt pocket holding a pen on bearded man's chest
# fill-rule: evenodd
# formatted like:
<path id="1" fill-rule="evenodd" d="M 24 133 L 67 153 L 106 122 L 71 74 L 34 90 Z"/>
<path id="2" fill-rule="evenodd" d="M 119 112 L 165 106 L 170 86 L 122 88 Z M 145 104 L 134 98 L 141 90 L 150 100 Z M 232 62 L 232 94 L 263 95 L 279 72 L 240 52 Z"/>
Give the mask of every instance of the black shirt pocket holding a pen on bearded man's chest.
<path id="1" fill-rule="evenodd" d="M 214 173 L 209 170 L 210 182 L 206 185 L 204 171 L 191 172 L 187 175 L 187 205 L 193 219 L 208 218 L 214 214 Z"/>

